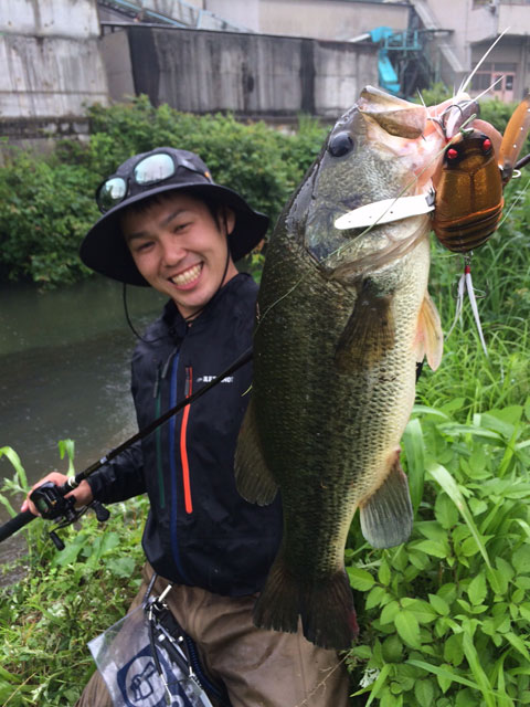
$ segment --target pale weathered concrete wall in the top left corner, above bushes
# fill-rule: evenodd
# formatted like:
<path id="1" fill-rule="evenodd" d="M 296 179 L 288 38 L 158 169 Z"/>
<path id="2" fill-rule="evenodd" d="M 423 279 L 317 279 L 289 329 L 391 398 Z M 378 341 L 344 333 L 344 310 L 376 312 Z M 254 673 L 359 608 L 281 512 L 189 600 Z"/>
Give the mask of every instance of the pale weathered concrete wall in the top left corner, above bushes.
<path id="1" fill-rule="evenodd" d="M 62 120 L 107 103 L 96 0 L 0 2 L 0 118 Z"/>

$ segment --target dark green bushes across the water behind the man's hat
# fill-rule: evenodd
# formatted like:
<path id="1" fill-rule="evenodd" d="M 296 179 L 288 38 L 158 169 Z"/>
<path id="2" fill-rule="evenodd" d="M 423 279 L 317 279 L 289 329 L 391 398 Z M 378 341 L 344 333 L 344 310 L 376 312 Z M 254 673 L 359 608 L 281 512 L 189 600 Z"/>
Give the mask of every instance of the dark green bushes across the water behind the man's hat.
<path id="1" fill-rule="evenodd" d="M 0 167 L 0 279 L 31 278 L 56 286 L 89 274 L 78 260 L 84 234 L 97 220 L 94 192 L 131 155 L 172 146 L 198 152 L 219 183 L 244 194 L 274 224 L 326 130 L 300 116 L 284 134 L 231 115 L 194 116 L 146 96 L 89 109 L 88 144 L 64 140 L 51 157 L 10 148 Z"/>

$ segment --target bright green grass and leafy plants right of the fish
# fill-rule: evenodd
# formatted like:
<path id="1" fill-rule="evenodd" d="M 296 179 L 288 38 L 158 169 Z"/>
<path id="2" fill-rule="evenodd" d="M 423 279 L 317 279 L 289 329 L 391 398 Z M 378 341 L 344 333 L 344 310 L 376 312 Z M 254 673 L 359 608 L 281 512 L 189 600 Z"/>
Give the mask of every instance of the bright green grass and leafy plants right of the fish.
<path id="1" fill-rule="evenodd" d="M 411 540 L 375 551 L 357 521 L 350 535 L 361 636 L 349 664 L 365 704 L 530 703 L 528 199 L 512 182 L 505 222 L 473 258 L 488 356 L 466 303 L 439 369 L 420 378 L 402 440 Z M 463 261 L 434 242 L 432 255 L 447 333 Z"/>

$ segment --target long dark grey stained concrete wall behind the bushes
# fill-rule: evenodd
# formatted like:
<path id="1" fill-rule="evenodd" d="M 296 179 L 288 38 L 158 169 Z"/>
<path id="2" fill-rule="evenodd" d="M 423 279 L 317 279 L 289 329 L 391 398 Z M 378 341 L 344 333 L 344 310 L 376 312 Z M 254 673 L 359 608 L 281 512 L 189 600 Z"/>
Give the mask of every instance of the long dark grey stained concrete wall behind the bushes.
<path id="1" fill-rule="evenodd" d="M 136 93 L 186 112 L 336 118 L 378 82 L 373 44 L 141 25 L 126 32 Z M 123 44 L 117 34 L 105 38 L 106 52 Z"/>

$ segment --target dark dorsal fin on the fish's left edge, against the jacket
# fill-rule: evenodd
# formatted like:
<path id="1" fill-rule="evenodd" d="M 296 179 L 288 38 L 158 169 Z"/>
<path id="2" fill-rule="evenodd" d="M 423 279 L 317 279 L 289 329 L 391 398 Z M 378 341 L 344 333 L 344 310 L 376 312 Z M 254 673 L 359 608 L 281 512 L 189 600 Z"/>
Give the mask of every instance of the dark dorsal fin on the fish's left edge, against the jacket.
<path id="1" fill-rule="evenodd" d="M 234 472 L 237 490 L 245 500 L 258 506 L 273 503 L 278 485 L 263 456 L 253 400 L 248 404 L 237 437 Z"/>

